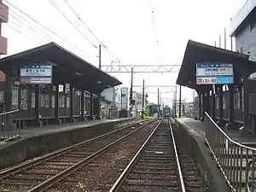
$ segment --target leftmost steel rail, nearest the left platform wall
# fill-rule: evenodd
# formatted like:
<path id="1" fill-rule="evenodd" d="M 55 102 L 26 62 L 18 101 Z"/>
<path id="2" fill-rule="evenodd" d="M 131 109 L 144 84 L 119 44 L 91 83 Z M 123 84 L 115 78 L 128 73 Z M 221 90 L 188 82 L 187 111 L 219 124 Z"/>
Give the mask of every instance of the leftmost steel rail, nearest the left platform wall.
<path id="1" fill-rule="evenodd" d="M 141 121 L 141 122 L 144 122 L 144 121 Z M 133 125 L 137 125 L 141 122 L 137 122 Z M 148 121 L 146 124 L 144 125 L 148 125 L 149 123 L 151 123 L 152 121 Z M 102 137 L 107 137 L 117 131 L 122 131 L 128 127 L 130 127 L 131 125 L 125 125 L 124 127 L 121 127 L 117 130 L 114 130 L 114 131 L 110 131 L 106 134 L 103 134 L 99 137 L 94 137 L 94 138 L 91 138 L 89 140 L 86 140 L 84 142 L 81 142 L 81 143 L 77 143 L 77 144 L 74 144 L 72 146 L 69 146 L 67 148 L 61 148 L 59 150 L 56 150 L 54 152 L 51 152 L 49 154 L 44 154 L 43 156 L 41 157 L 38 157 L 38 158 L 35 158 L 33 160 L 27 160 L 26 162 L 24 163 L 21 163 L 20 165 L 18 166 L 12 166 L 10 168 L 7 168 L 7 169 L 4 169 L 2 172 L 0 172 L 0 179 L 3 179 L 4 177 L 9 177 L 9 175 L 11 174 L 15 174 L 17 172 L 20 172 L 21 170 L 24 170 L 24 169 L 27 169 L 29 167 L 32 167 L 32 166 L 37 166 L 38 164 L 41 164 L 43 163 L 44 161 L 46 160 L 51 160 L 61 154 L 67 154 L 68 152 L 72 151 L 74 148 L 78 148 L 79 146 L 82 146 L 84 144 L 87 144 L 87 143 L 93 143 L 93 142 L 96 142 L 97 140 L 101 139 Z"/>

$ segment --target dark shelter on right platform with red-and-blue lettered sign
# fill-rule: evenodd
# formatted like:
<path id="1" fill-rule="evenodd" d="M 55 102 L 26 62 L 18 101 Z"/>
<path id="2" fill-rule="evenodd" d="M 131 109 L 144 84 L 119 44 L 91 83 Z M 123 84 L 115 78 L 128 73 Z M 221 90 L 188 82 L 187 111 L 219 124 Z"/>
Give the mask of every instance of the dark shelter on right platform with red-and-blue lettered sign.
<path id="1" fill-rule="evenodd" d="M 198 65 L 230 65 L 232 77 L 197 77 Z M 205 67 L 205 66 L 204 66 Z M 223 67 L 222 67 L 223 68 Z M 202 70 L 202 69 L 201 69 Z M 211 70 L 209 67 L 203 70 Z M 221 69 L 230 71 L 230 69 Z M 189 40 L 177 84 L 197 91 L 199 96 L 199 119 L 205 119 L 205 112 L 218 125 L 226 129 L 239 130 L 243 134 L 256 135 L 256 82 L 253 73 L 256 63 L 249 55 L 201 44 Z M 210 74 L 210 73 L 209 73 Z M 227 81 L 232 79 L 232 81 Z M 212 81 L 212 82 L 211 82 Z"/>

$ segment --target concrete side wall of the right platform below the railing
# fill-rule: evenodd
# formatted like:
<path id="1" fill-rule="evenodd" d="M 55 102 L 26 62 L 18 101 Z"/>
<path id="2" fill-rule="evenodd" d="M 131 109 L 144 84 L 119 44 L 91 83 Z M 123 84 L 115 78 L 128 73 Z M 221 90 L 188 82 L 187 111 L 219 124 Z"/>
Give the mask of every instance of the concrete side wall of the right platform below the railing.
<path id="1" fill-rule="evenodd" d="M 195 160 L 201 170 L 201 175 L 204 176 L 211 192 L 227 192 L 231 191 L 228 183 L 226 183 L 223 174 L 218 169 L 215 160 L 205 143 L 205 138 L 198 134 L 189 125 L 184 124 L 180 119 L 175 119 L 174 124 L 177 125 L 178 131 L 183 131 L 184 141 L 187 141 L 192 153 L 195 155 Z"/>

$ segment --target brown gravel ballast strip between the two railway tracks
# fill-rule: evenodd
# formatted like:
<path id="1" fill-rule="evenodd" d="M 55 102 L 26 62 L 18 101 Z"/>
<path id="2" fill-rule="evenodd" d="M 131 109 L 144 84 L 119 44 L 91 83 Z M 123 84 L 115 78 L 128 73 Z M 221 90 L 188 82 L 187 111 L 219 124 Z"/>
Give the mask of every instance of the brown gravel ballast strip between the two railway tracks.
<path id="1" fill-rule="evenodd" d="M 147 125 L 131 137 L 126 137 L 117 145 L 108 148 L 95 160 L 73 172 L 66 181 L 55 184 L 49 189 L 50 192 L 108 191 L 158 125 L 160 121 Z"/>

